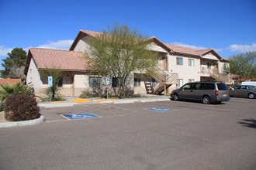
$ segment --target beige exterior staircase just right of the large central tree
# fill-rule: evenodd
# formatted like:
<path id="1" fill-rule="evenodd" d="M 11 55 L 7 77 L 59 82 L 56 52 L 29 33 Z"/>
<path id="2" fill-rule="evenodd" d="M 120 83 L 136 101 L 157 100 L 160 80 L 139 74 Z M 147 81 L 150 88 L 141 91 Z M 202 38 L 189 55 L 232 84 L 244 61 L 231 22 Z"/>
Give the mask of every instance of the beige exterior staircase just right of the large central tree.
<path id="1" fill-rule="evenodd" d="M 147 93 L 161 94 L 168 89 L 178 78 L 177 73 L 166 73 L 157 67 L 147 70 L 147 74 L 154 78 L 157 83 L 153 84 L 150 80 L 145 80 Z"/>

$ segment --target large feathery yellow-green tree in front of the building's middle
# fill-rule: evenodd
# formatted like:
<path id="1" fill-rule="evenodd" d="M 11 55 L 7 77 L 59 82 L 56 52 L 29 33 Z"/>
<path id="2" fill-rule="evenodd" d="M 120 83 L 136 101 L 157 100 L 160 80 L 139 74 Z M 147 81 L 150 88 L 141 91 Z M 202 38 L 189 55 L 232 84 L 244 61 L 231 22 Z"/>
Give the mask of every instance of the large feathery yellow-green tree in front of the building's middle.
<path id="1" fill-rule="evenodd" d="M 115 23 L 88 41 L 88 55 L 93 70 L 109 76 L 116 96 L 124 97 L 130 89 L 129 78 L 134 70 L 155 66 L 156 54 L 148 50 L 150 40 L 137 29 Z"/>

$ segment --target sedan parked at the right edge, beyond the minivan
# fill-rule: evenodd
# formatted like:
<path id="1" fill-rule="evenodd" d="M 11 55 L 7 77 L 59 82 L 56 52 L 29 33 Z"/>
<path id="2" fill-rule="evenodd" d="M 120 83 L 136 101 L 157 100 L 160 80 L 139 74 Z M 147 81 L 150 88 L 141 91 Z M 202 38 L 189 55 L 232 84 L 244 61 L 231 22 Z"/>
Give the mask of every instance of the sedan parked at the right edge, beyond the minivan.
<path id="1" fill-rule="evenodd" d="M 230 89 L 230 97 L 249 97 L 254 99 L 256 97 L 256 86 L 237 85 Z"/>

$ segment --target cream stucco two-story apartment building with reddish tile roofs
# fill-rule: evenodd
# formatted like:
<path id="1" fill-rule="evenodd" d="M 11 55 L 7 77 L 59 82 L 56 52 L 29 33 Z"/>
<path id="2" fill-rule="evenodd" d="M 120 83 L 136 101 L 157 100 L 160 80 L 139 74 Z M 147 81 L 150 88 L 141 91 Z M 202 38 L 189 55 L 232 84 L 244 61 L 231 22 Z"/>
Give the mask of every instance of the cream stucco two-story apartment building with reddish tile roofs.
<path id="1" fill-rule="evenodd" d="M 26 82 L 33 85 L 36 95 L 42 96 L 46 89 L 47 77 L 42 70 L 61 70 L 62 79 L 58 84 L 63 96 L 78 97 L 83 90 L 92 91 L 106 87 L 106 77 L 93 75 L 88 70 L 85 51 L 88 38 L 100 32 L 80 30 L 69 50 L 29 49 L 26 60 Z M 192 81 L 220 80 L 229 82 L 227 69 L 229 63 L 213 49 L 191 49 L 161 42 L 150 38 L 148 47 L 157 55 L 158 64 L 153 71 L 140 73 L 134 71 L 130 77 L 134 93 L 167 93 Z M 110 84 L 111 86 L 111 84 Z"/>

